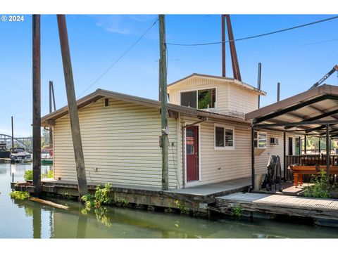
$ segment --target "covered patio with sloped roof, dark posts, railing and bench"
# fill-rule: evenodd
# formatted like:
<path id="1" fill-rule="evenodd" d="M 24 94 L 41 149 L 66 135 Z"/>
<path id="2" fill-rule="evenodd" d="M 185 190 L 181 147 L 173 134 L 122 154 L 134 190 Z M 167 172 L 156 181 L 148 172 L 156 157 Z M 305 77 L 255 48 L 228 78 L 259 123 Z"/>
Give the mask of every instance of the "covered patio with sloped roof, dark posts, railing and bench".
<path id="1" fill-rule="evenodd" d="M 251 184 L 255 187 L 255 145 L 254 133 L 259 130 L 282 131 L 283 161 L 282 178 L 289 179 L 288 167 L 293 168 L 296 183 L 298 176 L 315 174 L 324 169 L 327 175 L 338 174 L 337 155 L 331 154 L 331 140 L 338 138 L 338 86 L 324 84 L 296 96 L 281 100 L 264 108 L 249 112 L 246 120 L 251 120 Z M 295 154 L 287 155 L 287 134 L 295 134 L 299 138 Z M 301 136 L 304 139 L 302 154 Z M 319 137 L 325 139 L 325 150 L 307 154 L 306 138 Z M 299 171 L 299 174 L 296 173 Z M 312 173 L 313 172 L 313 173 Z M 297 180 L 296 180 L 297 179 Z M 300 179 L 301 180 L 301 179 Z"/>

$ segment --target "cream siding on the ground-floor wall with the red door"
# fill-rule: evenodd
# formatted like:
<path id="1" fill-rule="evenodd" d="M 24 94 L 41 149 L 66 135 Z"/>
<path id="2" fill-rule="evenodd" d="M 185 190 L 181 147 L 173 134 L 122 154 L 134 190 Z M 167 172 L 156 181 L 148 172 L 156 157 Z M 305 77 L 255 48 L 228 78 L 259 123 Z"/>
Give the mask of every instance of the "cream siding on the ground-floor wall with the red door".
<path id="1" fill-rule="evenodd" d="M 182 125 L 184 125 L 192 124 L 197 120 L 194 117 L 182 116 L 181 121 Z M 234 150 L 215 150 L 215 123 L 234 127 Z M 232 121 L 221 122 L 209 119 L 206 122 L 200 123 L 199 126 L 201 134 L 199 138 L 201 148 L 201 181 L 187 183 L 187 187 L 251 176 L 251 131 L 249 124 Z M 279 138 L 279 145 L 270 145 L 270 137 Z M 266 172 L 266 165 L 268 164 L 270 155 L 279 155 L 283 166 L 283 134 L 281 132 L 268 131 L 267 148 L 261 150 L 260 155 L 255 156 L 257 174 L 264 174 Z M 184 168 L 185 165 L 183 165 L 182 167 Z"/>

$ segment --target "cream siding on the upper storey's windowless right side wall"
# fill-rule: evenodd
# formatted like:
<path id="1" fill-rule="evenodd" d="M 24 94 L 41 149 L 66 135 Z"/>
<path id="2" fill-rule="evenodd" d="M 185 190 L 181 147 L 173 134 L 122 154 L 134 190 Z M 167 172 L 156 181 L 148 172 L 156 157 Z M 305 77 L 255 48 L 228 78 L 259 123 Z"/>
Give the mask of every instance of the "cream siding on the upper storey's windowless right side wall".
<path id="1" fill-rule="evenodd" d="M 258 94 L 238 85 L 229 86 L 229 110 L 244 115 L 258 109 Z"/>

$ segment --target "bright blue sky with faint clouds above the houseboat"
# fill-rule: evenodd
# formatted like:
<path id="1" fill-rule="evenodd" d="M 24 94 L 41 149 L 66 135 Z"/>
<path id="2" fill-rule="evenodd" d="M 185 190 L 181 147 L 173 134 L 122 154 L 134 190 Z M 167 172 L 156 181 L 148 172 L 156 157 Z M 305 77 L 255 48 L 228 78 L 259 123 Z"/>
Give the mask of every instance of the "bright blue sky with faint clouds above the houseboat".
<path id="1" fill-rule="evenodd" d="M 249 37 L 333 15 L 231 15 L 234 38 Z M 80 98 L 98 88 L 135 96 L 158 97 L 158 23 L 96 84 L 156 20 L 156 15 L 67 15 L 75 91 Z M 168 43 L 220 41 L 220 15 L 166 15 Z M 48 84 L 54 81 L 56 108 L 67 104 L 56 15 L 42 15 L 42 115 L 49 112 Z M 306 91 L 338 64 L 338 19 L 267 37 L 237 41 L 242 81 L 257 85 L 261 62 L 262 105 Z M 32 122 L 32 17 L 0 22 L 0 134 L 30 136 Z M 227 76 L 232 77 L 229 46 Z M 168 84 L 193 72 L 221 75 L 221 46 L 168 45 Z M 337 74 L 327 84 L 338 85 Z M 88 89 L 88 87 L 90 88 Z"/>

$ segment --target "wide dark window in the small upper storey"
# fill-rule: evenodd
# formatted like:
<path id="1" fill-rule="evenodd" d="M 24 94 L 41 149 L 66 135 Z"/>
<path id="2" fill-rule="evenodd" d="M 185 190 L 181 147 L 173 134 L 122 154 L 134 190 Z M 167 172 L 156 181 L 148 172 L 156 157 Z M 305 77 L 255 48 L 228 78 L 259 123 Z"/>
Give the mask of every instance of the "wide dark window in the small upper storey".
<path id="1" fill-rule="evenodd" d="M 215 108 L 216 89 L 200 89 L 196 91 L 183 91 L 180 93 L 181 105 L 208 109 Z"/>

